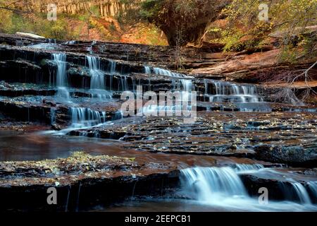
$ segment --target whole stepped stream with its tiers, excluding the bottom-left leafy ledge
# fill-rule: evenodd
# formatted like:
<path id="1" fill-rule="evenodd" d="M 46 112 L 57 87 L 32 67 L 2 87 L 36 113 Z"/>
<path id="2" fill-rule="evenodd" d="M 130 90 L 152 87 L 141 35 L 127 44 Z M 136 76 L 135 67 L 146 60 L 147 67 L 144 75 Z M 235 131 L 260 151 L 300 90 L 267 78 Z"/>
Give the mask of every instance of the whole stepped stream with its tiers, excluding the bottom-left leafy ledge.
<path id="1" fill-rule="evenodd" d="M 85 151 L 178 170 L 178 186 L 161 197 L 126 191 L 132 196 L 82 208 L 89 211 L 317 211 L 316 108 L 296 96 L 273 103 L 261 85 L 106 59 L 94 48 L 83 54 L 68 49 L 72 44 L 46 45 L 0 46 L 1 162 Z M 136 93 L 138 85 L 180 91 L 187 100 L 197 91 L 196 120 L 125 117 L 120 95 Z M 160 102 L 135 112 L 178 107 Z M 287 154 L 280 157 L 281 151 Z M 258 201 L 261 187 L 268 203 Z"/>

